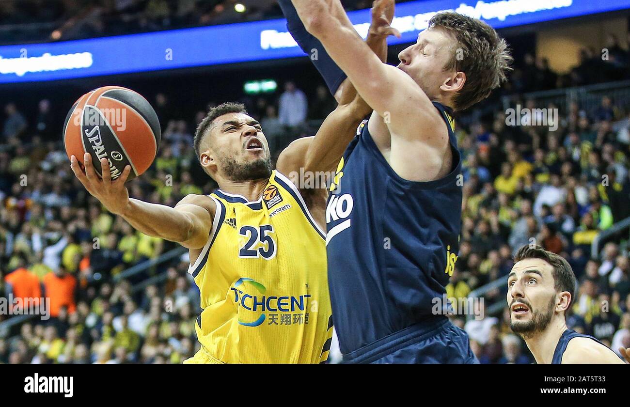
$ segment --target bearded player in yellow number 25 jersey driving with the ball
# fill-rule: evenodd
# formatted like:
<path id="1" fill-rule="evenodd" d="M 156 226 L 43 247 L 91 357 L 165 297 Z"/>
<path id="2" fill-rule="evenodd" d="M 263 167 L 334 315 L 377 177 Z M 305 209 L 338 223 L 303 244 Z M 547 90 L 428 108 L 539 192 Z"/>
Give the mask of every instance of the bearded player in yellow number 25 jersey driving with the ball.
<path id="1" fill-rule="evenodd" d="M 370 49 L 386 49 L 389 23 L 373 20 L 370 32 Z M 371 111 L 352 84 L 346 81 L 342 88 L 338 107 L 316 136 L 292 142 L 275 170 L 263 129 L 243 105 L 224 103 L 210 110 L 194 147 L 219 189 L 188 195 L 174 208 L 130 198 L 129 166 L 112 181 L 101 162 L 101 180 L 89 154 L 83 158 L 85 172 L 71 157 L 74 174 L 112 214 L 144 234 L 189 249 L 188 273 L 201 294 L 195 329 L 202 346 L 185 363 L 327 360 L 332 337 L 324 233 L 328 190 L 309 188 L 311 183 L 298 178 L 333 173 Z"/>

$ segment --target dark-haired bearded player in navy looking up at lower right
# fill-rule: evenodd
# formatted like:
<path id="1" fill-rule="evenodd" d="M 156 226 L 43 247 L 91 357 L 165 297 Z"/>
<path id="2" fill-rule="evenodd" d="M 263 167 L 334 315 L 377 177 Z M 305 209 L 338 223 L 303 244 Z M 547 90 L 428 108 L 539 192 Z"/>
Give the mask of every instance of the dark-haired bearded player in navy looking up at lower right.
<path id="1" fill-rule="evenodd" d="M 520 248 L 508 275 L 508 306 L 512 331 L 522 336 L 538 364 L 624 363 L 590 335 L 566 327 L 575 274 L 562 256 L 541 246 Z M 630 348 L 619 352 L 630 362 Z"/>

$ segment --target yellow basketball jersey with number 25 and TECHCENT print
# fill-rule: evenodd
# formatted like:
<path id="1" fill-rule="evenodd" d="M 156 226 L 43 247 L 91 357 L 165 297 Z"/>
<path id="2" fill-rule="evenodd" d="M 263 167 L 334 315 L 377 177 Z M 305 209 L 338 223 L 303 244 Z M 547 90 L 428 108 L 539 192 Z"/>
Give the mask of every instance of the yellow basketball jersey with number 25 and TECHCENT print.
<path id="1" fill-rule="evenodd" d="M 273 171 L 256 202 L 221 190 L 210 197 L 212 231 L 188 270 L 201 292 L 200 352 L 224 363 L 325 361 L 332 337 L 325 234 L 297 188 Z"/>

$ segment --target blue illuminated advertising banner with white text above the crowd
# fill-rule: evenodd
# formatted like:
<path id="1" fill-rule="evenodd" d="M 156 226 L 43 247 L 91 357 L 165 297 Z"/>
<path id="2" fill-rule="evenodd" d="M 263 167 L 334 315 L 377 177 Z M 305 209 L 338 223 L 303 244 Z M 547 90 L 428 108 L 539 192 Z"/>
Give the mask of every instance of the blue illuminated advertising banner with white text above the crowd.
<path id="1" fill-rule="evenodd" d="M 438 11 L 481 18 L 495 28 L 630 8 L 630 0 L 430 0 L 396 6 L 392 25 L 414 42 Z M 365 38 L 369 10 L 348 13 Z M 300 57 L 304 53 L 287 32 L 286 21 L 267 20 L 184 30 L 0 47 L 0 83 L 157 71 Z"/>

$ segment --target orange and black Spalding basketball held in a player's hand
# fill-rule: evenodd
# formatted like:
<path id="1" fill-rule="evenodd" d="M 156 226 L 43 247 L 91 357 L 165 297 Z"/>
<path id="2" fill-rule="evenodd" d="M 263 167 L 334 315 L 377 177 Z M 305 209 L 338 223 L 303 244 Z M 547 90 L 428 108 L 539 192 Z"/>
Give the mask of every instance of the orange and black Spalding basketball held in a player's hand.
<path id="1" fill-rule="evenodd" d="M 161 139 L 159 120 L 151 104 L 139 93 L 120 86 L 104 86 L 81 96 L 64 123 L 68 158 L 83 164 L 92 156 L 101 176 L 101 159 L 107 159 L 112 180 L 131 166 L 129 180 L 144 173 L 156 158 Z M 83 168 L 83 166 L 82 166 Z"/>

